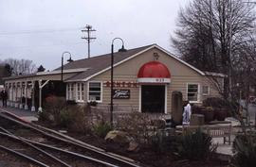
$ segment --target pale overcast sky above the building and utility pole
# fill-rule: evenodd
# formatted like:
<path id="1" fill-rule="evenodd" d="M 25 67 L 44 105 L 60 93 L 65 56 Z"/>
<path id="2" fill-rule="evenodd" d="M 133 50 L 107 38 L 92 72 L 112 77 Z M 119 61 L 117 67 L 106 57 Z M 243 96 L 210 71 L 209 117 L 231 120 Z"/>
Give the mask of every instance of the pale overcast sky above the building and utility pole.
<path id="1" fill-rule="evenodd" d="M 177 12 L 190 0 L 0 0 L 0 59 L 27 58 L 47 70 L 61 65 L 64 51 L 87 58 L 81 30 L 92 25 L 91 56 L 110 52 L 120 37 L 126 48 L 157 43 L 174 52 Z M 118 50 L 120 43 L 115 42 Z M 68 56 L 65 56 L 68 58 Z"/>

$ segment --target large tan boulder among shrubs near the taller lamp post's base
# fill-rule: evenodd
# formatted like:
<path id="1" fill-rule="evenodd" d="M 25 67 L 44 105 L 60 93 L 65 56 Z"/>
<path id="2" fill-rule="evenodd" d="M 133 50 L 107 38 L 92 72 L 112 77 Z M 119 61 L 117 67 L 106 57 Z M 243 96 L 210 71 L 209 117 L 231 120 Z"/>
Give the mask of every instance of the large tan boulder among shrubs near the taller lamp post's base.
<path id="1" fill-rule="evenodd" d="M 129 143 L 131 139 L 128 136 L 128 133 L 119 131 L 119 130 L 112 130 L 107 133 L 105 137 L 105 141 L 107 142 L 117 142 L 117 143 Z"/>

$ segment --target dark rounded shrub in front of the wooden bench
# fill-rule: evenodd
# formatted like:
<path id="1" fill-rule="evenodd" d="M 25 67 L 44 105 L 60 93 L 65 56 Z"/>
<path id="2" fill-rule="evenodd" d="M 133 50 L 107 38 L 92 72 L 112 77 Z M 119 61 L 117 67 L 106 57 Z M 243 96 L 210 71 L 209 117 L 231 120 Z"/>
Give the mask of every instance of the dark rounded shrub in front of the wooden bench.
<path id="1" fill-rule="evenodd" d="M 200 129 L 195 132 L 186 132 L 180 139 L 177 148 L 178 155 L 184 159 L 208 159 L 216 149 L 211 145 L 211 137 Z"/>

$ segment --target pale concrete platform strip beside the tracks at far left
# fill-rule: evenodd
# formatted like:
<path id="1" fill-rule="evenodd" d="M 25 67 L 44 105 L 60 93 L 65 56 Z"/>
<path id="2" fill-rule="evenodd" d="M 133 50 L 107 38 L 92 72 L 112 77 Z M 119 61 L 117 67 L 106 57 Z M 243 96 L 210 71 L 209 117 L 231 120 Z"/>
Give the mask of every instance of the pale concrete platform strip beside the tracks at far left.
<path id="1" fill-rule="evenodd" d="M 0 111 L 8 111 L 13 113 L 27 122 L 38 121 L 38 113 L 30 110 L 0 107 Z"/>

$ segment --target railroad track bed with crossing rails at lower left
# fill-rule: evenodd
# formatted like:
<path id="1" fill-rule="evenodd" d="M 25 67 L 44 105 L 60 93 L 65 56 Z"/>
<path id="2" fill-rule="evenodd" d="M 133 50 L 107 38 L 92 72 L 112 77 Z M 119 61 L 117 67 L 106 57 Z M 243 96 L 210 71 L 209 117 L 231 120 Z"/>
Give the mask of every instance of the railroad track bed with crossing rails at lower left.
<path id="1" fill-rule="evenodd" d="M 139 166 L 132 159 L 108 153 L 44 126 L 27 123 L 0 110 L 0 150 L 27 159 L 36 166 Z"/>

